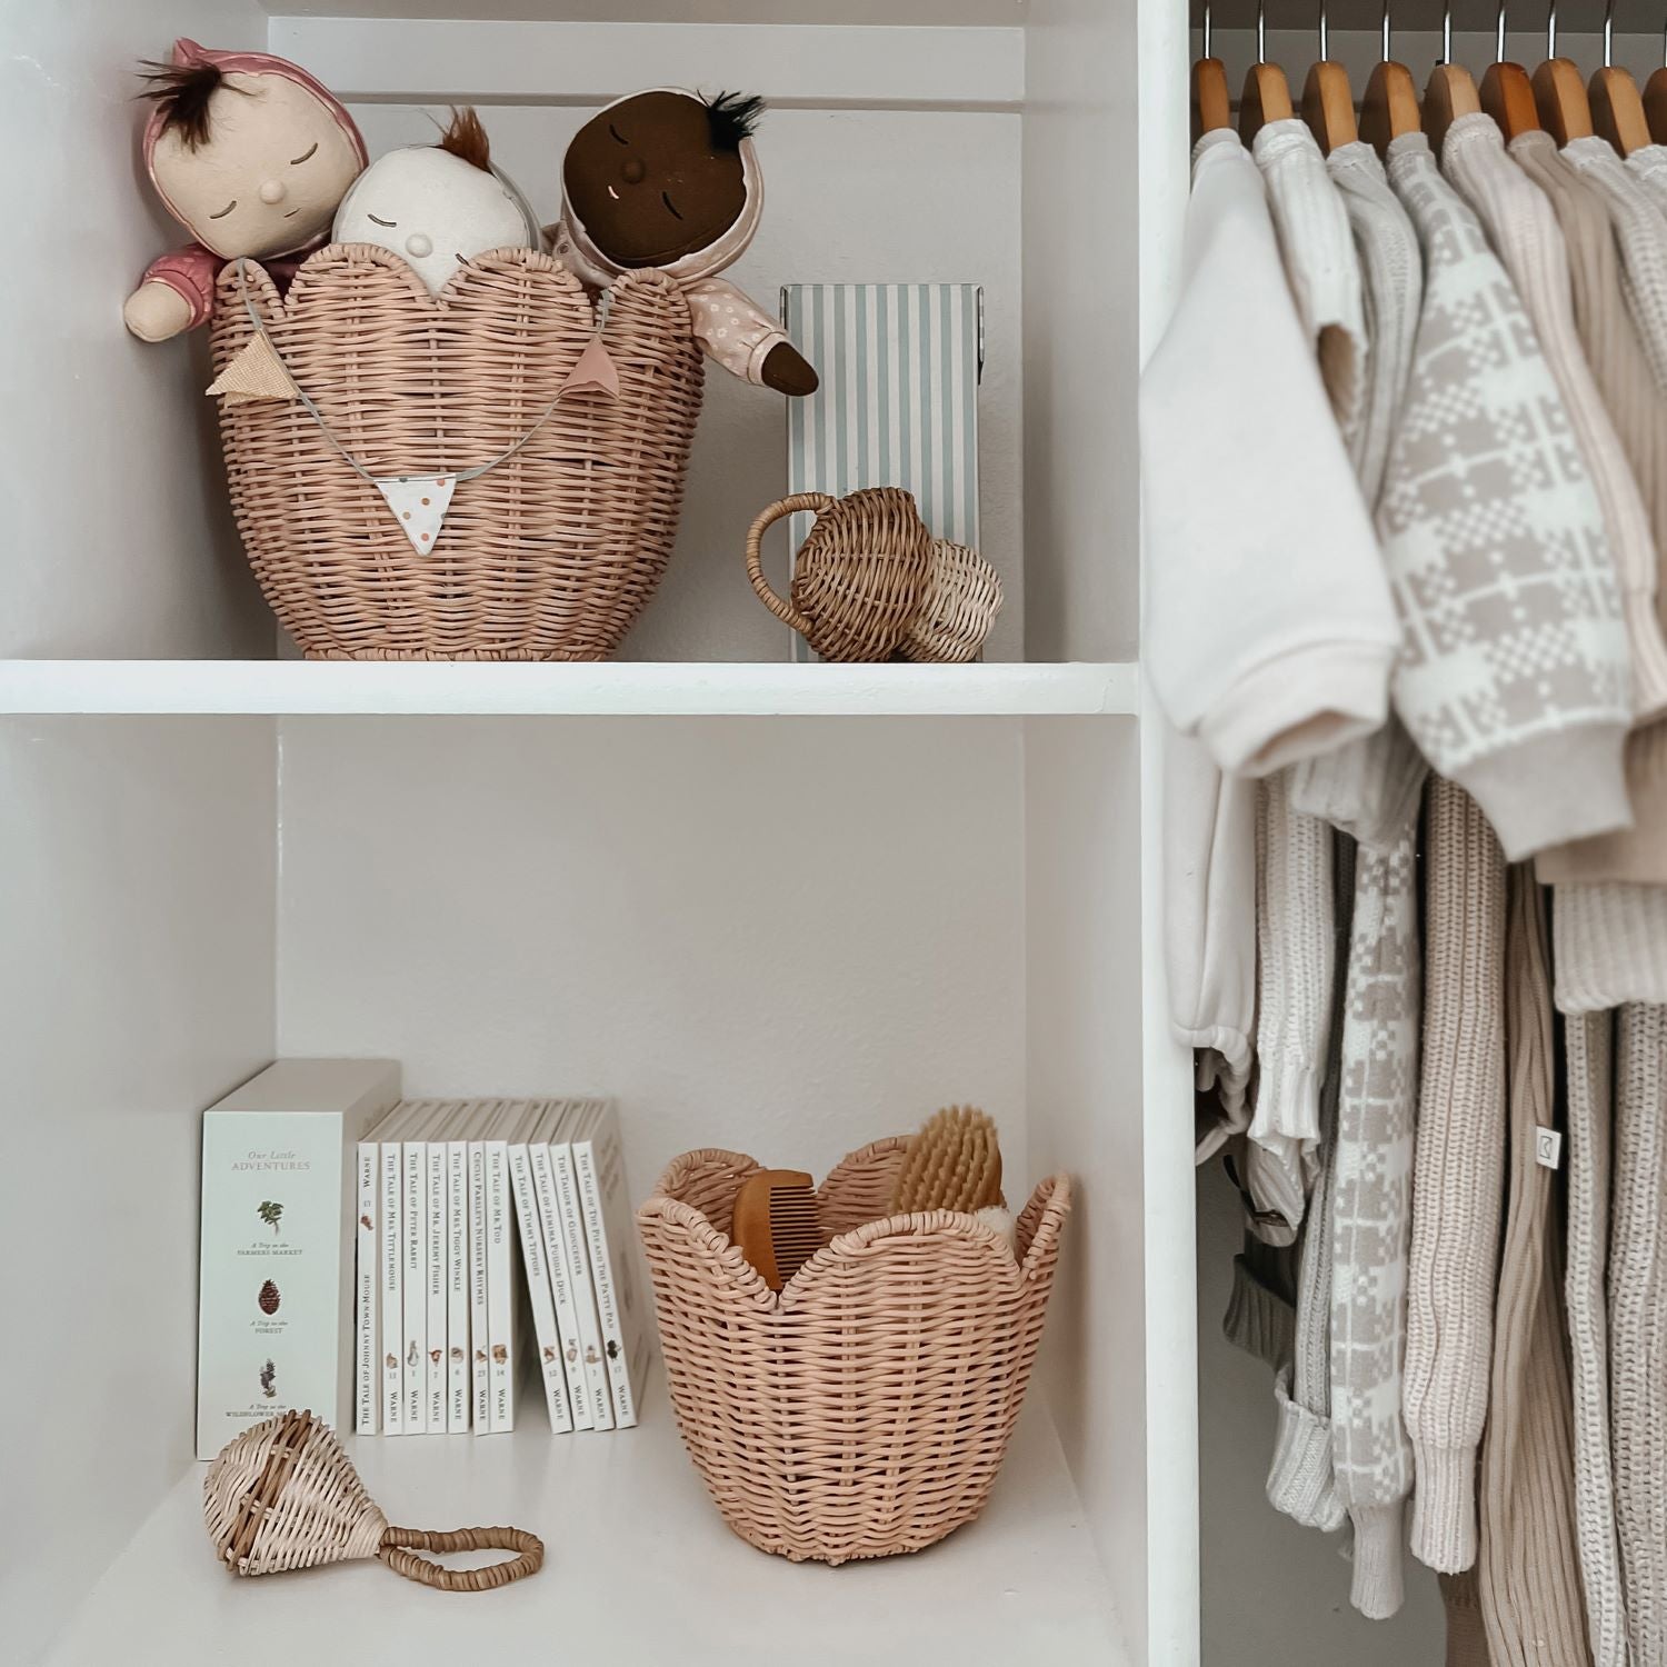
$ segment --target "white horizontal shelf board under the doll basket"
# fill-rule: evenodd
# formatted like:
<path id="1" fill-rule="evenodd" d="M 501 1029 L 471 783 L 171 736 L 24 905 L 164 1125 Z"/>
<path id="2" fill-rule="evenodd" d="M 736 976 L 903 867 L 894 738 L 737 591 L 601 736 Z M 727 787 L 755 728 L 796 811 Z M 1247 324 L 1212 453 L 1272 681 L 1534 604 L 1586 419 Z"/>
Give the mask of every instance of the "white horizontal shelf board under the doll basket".
<path id="1" fill-rule="evenodd" d="M 1130 662 L 0 660 L 0 713 L 1132 715 L 1139 688 L 1139 668 Z"/>

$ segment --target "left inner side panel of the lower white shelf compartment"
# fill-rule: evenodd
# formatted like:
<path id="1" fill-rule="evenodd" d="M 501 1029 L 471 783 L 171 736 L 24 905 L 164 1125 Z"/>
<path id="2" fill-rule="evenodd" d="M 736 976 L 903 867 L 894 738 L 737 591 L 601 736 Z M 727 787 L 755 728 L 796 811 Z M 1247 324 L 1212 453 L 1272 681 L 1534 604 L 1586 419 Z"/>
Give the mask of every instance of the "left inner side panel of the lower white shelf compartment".
<path id="1" fill-rule="evenodd" d="M 192 1460 L 198 1112 L 272 1057 L 268 718 L 0 725 L 0 1655 Z"/>

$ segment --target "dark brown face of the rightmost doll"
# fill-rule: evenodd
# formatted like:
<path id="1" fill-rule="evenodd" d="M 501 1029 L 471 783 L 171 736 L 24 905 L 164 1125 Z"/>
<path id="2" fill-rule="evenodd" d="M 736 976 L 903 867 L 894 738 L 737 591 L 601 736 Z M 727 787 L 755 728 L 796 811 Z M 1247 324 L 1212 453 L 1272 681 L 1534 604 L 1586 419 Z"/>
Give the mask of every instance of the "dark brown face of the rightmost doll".
<path id="1" fill-rule="evenodd" d="M 740 157 L 713 148 L 707 107 L 685 93 L 642 93 L 592 117 L 567 147 L 562 183 L 620 267 L 668 267 L 747 207 Z"/>

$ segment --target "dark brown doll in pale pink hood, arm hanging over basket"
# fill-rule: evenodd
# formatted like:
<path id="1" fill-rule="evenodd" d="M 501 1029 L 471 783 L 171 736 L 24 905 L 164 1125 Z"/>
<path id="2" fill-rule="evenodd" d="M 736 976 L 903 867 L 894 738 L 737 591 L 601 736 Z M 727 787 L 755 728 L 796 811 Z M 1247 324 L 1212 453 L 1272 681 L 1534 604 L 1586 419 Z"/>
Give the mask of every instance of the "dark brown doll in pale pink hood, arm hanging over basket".
<path id="1" fill-rule="evenodd" d="M 718 272 L 758 228 L 763 175 L 752 133 L 763 100 L 658 87 L 592 117 L 562 162 L 558 260 L 602 288 L 625 272 L 668 273 L 688 297 L 710 358 L 778 393 L 813 393 L 817 373 L 787 332 Z"/>

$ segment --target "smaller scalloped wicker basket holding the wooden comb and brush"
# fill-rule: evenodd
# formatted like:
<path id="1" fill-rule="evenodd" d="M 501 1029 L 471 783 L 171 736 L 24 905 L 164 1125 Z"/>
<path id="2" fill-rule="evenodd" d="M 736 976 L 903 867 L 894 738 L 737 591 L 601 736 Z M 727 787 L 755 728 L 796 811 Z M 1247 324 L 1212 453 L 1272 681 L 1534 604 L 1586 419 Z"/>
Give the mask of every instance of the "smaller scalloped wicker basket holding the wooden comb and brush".
<path id="1" fill-rule="evenodd" d="M 827 1177 L 835 1237 L 780 1295 L 728 1239 L 750 1157 L 688 1152 L 637 1214 L 690 1457 L 725 1522 L 793 1562 L 914 1552 L 977 1517 L 1030 1380 L 1069 1180 L 1037 1187 L 1015 1262 L 970 1215 L 884 1215 L 905 1149 Z"/>

